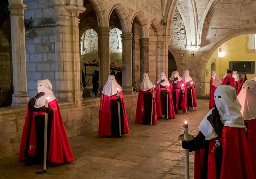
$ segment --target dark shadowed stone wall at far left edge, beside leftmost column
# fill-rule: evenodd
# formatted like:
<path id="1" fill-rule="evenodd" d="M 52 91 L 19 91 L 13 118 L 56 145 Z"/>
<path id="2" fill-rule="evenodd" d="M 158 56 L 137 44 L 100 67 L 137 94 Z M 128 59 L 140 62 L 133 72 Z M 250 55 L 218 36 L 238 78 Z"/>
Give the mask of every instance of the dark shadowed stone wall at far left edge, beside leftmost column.
<path id="1" fill-rule="evenodd" d="M 11 105 L 13 93 L 11 44 L 0 30 L 0 107 Z"/>

